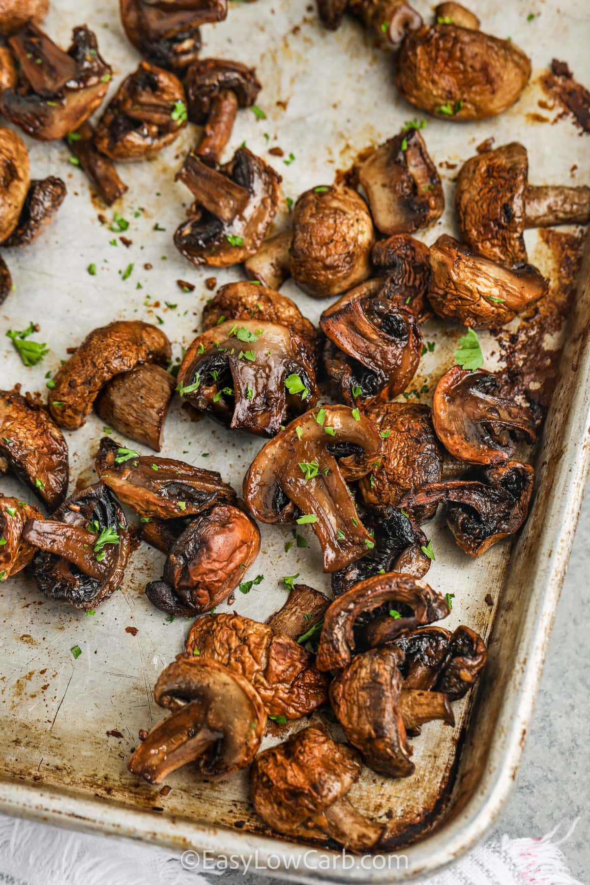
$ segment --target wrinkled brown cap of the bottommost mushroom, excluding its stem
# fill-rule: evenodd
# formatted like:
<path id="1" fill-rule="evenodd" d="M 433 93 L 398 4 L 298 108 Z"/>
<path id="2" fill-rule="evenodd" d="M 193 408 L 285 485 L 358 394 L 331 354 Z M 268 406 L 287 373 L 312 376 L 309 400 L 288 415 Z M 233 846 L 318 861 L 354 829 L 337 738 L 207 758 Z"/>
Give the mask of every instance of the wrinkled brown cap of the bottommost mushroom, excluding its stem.
<path id="1" fill-rule="evenodd" d="M 254 759 L 252 804 L 264 823 L 287 833 L 346 796 L 362 767 L 346 744 L 320 728 L 303 728 Z"/>

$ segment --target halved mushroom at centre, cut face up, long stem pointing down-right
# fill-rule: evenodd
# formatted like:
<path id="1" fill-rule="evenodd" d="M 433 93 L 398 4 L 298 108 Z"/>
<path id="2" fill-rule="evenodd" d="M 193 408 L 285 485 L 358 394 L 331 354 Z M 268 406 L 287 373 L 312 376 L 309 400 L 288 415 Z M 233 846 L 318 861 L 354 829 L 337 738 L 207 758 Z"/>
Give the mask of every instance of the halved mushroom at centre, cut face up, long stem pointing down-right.
<path id="1" fill-rule="evenodd" d="M 310 524 L 336 572 L 373 546 L 347 482 L 364 476 L 364 457 L 377 460 L 377 427 L 343 405 L 306 412 L 265 443 L 244 477 L 244 498 L 260 522 Z"/>

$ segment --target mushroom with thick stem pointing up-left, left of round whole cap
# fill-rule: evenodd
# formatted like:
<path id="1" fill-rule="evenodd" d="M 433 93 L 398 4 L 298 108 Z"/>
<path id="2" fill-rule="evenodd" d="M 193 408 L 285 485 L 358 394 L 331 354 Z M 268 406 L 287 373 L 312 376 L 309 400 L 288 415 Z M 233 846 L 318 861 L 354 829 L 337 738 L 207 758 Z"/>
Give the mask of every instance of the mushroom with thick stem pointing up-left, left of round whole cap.
<path id="1" fill-rule="evenodd" d="M 219 170 L 189 153 L 177 174 L 195 205 L 174 234 L 174 245 L 193 264 L 228 267 L 256 254 L 280 200 L 280 175 L 248 148 Z"/>

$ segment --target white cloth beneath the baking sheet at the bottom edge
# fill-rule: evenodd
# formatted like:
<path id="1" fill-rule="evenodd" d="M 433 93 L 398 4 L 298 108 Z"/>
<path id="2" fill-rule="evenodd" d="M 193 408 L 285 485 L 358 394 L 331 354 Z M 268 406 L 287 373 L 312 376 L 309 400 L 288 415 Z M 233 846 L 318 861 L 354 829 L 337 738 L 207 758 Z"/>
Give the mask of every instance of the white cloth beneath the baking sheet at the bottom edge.
<path id="1" fill-rule="evenodd" d="M 571 878 L 557 829 L 541 839 L 510 839 L 480 845 L 448 871 L 420 885 L 584 885 Z M 194 858 L 191 858 L 194 861 Z M 0 882 L 17 885 L 218 885 L 211 873 L 184 869 L 180 855 L 127 839 L 82 835 L 0 815 Z M 252 873 L 225 873 L 229 882 L 252 883 Z M 278 881 L 275 878 L 275 881 Z"/>

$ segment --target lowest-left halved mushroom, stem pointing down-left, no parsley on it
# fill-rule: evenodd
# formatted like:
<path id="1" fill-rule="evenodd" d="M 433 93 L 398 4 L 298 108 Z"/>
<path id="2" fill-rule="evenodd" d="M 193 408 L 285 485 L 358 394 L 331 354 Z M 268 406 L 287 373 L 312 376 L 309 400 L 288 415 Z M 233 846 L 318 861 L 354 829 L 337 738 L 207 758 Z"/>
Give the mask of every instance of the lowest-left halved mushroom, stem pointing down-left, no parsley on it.
<path id="1" fill-rule="evenodd" d="M 266 713 L 249 682 L 217 661 L 177 655 L 160 673 L 154 700 L 172 711 L 148 733 L 127 763 L 149 783 L 162 783 L 196 763 L 207 777 L 249 766 L 266 728 Z"/>

